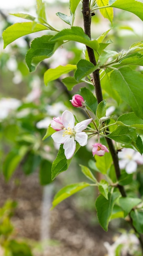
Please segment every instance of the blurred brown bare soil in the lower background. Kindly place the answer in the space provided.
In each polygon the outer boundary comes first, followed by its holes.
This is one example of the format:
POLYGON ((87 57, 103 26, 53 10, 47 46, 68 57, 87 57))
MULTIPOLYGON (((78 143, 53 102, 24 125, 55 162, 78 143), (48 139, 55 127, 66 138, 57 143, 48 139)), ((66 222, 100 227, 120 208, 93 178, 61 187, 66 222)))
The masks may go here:
MULTIPOLYGON (((6 184, 1 175, 0 206, 8 198, 17 200, 12 218, 18 237, 40 241, 41 203, 43 188, 38 175, 16 174, 20 185, 15 189, 14 179, 6 184)), ((71 200, 71 199, 70 199, 71 200)), ((91 225, 90 213, 76 211, 69 199, 50 211, 50 239, 56 241, 45 252, 34 250, 34 256, 105 256, 104 242, 112 241, 113 232, 106 233, 100 226, 91 225)))

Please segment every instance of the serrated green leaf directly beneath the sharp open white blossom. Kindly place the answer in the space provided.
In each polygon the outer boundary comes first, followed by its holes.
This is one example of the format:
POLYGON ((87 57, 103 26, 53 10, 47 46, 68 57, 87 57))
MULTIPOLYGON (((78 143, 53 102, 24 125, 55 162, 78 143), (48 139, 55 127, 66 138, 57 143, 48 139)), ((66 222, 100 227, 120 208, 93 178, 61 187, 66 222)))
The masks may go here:
MULTIPOLYGON (((74 155, 76 154, 76 152, 78 151, 78 149, 80 148, 80 145, 77 143, 76 144, 76 150, 74 155)), ((63 149, 63 145, 61 144, 60 149, 58 150, 58 155, 56 156, 56 159, 54 159, 53 163, 52 163, 52 180, 54 180, 54 178, 59 174, 62 173, 63 171, 66 171, 67 168, 69 167, 71 161, 72 161, 72 157, 71 159, 66 159, 65 154, 64 154, 64 149, 63 149)))

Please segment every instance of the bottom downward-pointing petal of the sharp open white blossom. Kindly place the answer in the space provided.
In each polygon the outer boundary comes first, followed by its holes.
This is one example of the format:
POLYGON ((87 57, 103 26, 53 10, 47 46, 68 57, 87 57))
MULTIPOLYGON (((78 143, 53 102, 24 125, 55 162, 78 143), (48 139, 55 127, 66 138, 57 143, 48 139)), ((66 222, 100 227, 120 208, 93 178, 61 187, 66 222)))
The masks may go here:
POLYGON ((67 159, 70 159, 73 157, 74 152, 76 150, 76 141, 74 140, 74 137, 72 138, 67 138, 64 145, 63 149, 65 149, 65 157, 67 159))

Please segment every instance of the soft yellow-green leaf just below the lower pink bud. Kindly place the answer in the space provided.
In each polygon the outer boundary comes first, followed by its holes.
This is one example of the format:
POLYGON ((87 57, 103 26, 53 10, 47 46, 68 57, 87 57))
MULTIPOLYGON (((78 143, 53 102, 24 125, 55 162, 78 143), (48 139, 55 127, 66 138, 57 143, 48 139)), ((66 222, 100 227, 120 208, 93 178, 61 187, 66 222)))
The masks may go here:
POLYGON ((102 157, 95 155, 95 160, 96 160, 96 167, 102 174, 107 173, 108 169, 111 167, 111 164, 113 162, 110 152, 105 153, 105 155, 102 157))

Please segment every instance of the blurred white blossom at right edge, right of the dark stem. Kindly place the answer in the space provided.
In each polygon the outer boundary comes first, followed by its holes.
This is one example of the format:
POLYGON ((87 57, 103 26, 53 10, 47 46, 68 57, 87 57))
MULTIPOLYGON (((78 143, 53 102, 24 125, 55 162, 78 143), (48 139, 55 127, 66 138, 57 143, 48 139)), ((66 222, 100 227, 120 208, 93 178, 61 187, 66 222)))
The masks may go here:
POLYGON ((118 152, 119 167, 125 169, 126 173, 134 173, 138 164, 143 164, 143 156, 132 148, 123 148, 118 152))

